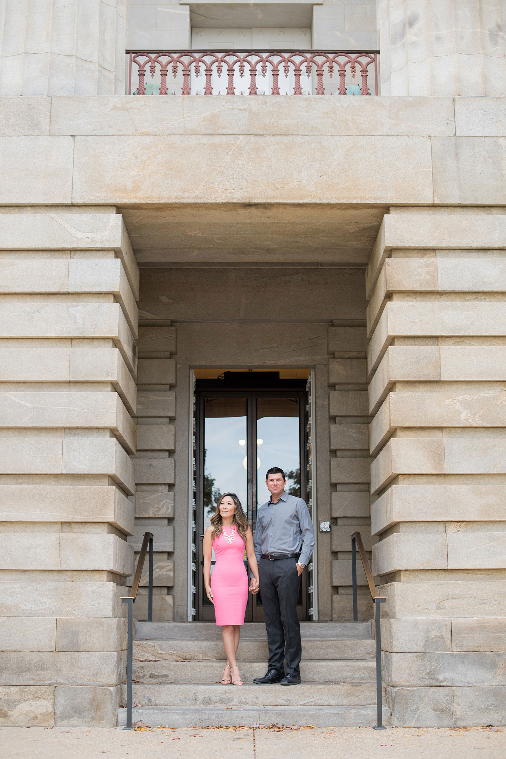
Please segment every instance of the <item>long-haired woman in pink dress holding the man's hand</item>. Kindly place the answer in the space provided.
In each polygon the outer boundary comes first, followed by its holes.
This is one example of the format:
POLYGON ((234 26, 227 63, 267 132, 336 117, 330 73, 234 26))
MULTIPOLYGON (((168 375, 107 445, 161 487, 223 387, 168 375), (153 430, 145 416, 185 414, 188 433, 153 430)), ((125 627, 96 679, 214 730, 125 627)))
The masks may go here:
POLYGON ((251 572, 255 575, 251 579, 251 593, 258 593, 259 580, 257 559, 253 550, 253 535, 236 493, 224 493, 220 497, 216 511, 211 517, 211 527, 205 531, 203 547, 205 592, 214 604, 216 624, 223 625, 226 666, 221 684, 242 685, 239 667, 236 664, 236 653, 248 603, 248 572, 244 565, 245 549, 251 572), (213 549, 216 563, 210 582, 213 549))

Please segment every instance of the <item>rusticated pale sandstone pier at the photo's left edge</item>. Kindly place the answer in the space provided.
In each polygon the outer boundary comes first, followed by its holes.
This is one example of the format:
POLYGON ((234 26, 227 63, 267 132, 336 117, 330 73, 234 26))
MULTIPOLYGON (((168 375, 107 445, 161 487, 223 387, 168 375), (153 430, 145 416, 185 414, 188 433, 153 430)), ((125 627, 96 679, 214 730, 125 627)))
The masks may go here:
POLYGON ((139 269, 102 211, 0 215, 3 725, 116 724, 139 269))

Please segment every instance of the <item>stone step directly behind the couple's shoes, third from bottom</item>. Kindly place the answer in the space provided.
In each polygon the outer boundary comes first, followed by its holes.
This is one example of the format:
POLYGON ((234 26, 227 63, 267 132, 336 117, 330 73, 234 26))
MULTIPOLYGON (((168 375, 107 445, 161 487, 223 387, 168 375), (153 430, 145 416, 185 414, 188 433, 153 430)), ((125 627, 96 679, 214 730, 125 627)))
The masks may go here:
MULTIPOLYGON (((219 683, 223 677, 222 662, 210 661, 148 661, 133 663, 133 679, 148 682, 219 683)), ((244 682, 263 677, 267 662, 241 661, 239 670, 244 682)), ((320 683, 373 682, 376 679, 376 660, 313 660, 301 661, 303 681, 320 683)), ((258 686, 255 686, 258 687, 258 686)), ((268 686, 270 687, 270 686, 268 686)), ((283 688, 285 690, 286 688, 283 688)))

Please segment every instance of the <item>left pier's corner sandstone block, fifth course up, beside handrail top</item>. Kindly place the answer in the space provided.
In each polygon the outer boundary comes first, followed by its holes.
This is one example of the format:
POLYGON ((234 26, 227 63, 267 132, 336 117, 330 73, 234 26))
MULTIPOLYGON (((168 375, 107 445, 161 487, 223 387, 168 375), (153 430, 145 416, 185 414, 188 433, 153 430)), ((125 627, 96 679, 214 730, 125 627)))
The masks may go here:
POLYGON ((117 575, 133 573, 133 550, 117 535, 60 536, 60 569, 102 569, 117 575))

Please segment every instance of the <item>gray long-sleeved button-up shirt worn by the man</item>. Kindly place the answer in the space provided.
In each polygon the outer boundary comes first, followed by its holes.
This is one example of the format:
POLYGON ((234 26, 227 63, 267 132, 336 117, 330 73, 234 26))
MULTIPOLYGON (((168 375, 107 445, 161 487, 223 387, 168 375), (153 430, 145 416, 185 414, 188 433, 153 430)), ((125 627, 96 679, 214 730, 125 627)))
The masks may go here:
POLYGON ((298 560, 307 564, 314 549, 314 531, 305 501, 283 493, 276 503, 271 499, 264 503, 257 512, 253 545, 257 561, 262 553, 300 551, 298 560))

